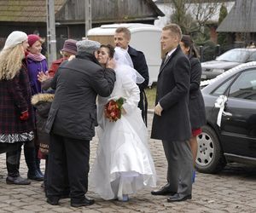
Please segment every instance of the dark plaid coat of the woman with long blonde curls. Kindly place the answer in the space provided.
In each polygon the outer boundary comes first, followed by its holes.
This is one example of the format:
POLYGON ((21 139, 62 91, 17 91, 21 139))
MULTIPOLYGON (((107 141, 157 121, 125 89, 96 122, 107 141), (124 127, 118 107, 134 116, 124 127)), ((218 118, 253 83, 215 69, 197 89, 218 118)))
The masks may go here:
POLYGON ((24 60, 15 78, 0 80, 0 134, 23 133, 35 129, 31 96, 24 60), (20 114, 26 110, 29 118, 21 121, 20 114))

